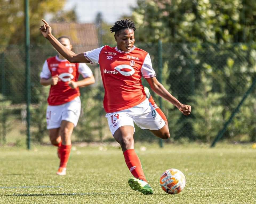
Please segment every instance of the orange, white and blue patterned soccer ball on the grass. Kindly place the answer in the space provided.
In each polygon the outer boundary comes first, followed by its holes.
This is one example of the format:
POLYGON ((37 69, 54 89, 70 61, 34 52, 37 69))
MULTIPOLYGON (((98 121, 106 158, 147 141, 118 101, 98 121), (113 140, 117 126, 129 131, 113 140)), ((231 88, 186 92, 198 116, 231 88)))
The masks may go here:
POLYGON ((181 192, 186 185, 184 174, 178 169, 167 169, 160 178, 160 186, 169 194, 181 192))

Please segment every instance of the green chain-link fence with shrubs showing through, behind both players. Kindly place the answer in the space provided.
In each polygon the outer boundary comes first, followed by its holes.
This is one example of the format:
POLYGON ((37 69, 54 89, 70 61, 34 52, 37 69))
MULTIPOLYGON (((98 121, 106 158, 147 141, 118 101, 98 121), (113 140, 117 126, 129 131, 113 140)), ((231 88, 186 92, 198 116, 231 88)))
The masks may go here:
MULTIPOLYGON (((81 46, 81 45, 79 45, 81 46)), ((235 110, 256 77, 256 44, 136 44, 151 56, 153 67, 162 75, 162 84, 181 103, 192 106, 189 117, 163 100, 162 110, 169 121, 171 138, 186 142, 212 141, 235 110), (161 58, 162 56, 162 58, 161 58), (163 65, 159 71, 159 65, 163 65)), ((76 48, 77 46, 74 45, 76 48)), ((92 46, 92 48, 95 46, 92 46)), ((31 46, 31 137, 43 142, 47 135, 45 112, 49 87, 39 83, 51 47, 31 46)), ((26 134, 26 90, 24 48, 9 46, 1 53, 1 142, 26 134)), ((74 130, 78 141, 113 141, 103 109, 104 89, 98 65, 89 65, 96 83, 81 88, 82 114, 74 130)), ((148 86, 146 80, 143 85, 148 86)), ((154 100, 159 96, 152 91, 154 100)), ((256 139, 255 90, 249 94, 228 126, 224 138, 230 141, 256 139)), ((136 140, 157 141, 147 130, 136 128, 136 140)))

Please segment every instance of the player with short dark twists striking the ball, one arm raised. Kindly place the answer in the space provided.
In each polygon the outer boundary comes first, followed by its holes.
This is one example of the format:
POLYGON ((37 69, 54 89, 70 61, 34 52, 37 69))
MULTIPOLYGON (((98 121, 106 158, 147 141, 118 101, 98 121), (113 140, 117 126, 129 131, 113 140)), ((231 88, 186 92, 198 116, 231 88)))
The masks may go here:
POLYGON ((189 105, 180 103, 155 77, 149 53, 134 45, 135 25, 130 20, 119 20, 111 27, 114 32, 116 47, 108 45, 91 51, 75 54, 63 46, 51 33, 50 25, 43 20, 40 27, 42 35, 70 62, 99 63, 105 88, 103 106, 109 128, 115 140, 120 144, 125 162, 135 178, 128 183, 133 190, 143 194, 153 194, 141 167, 141 162, 134 150, 134 122, 141 129, 149 129, 162 139, 170 137, 168 126, 155 111, 146 97, 141 77, 145 78, 150 88, 159 96, 175 105, 188 116, 189 105))

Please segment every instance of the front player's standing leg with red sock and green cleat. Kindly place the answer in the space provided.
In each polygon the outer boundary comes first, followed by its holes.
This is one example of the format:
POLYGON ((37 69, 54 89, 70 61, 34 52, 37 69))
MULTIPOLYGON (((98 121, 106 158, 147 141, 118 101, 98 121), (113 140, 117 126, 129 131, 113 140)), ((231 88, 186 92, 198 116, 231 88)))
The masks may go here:
POLYGON ((143 194, 153 194, 153 189, 147 183, 141 162, 134 150, 133 126, 121 126, 114 133, 115 140, 120 144, 125 163, 135 178, 130 178, 128 184, 131 189, 143 194))

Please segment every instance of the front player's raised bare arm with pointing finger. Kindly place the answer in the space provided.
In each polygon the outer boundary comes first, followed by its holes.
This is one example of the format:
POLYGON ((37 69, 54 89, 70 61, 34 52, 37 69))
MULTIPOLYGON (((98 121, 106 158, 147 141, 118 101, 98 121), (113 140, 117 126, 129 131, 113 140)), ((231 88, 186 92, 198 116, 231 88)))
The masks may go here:
POLYGON ((42 35, 50 41, 50 43, 54 46, 54 48, 63 56, 65 57, 69 62, 71 63, 90 63, 89 60, 87 60, 83 53, 75 54, 73 51, 65 48, 51 33, 51 27, 50 25, 45 21, 43 21, 43 25, 39 28, 42 35))

